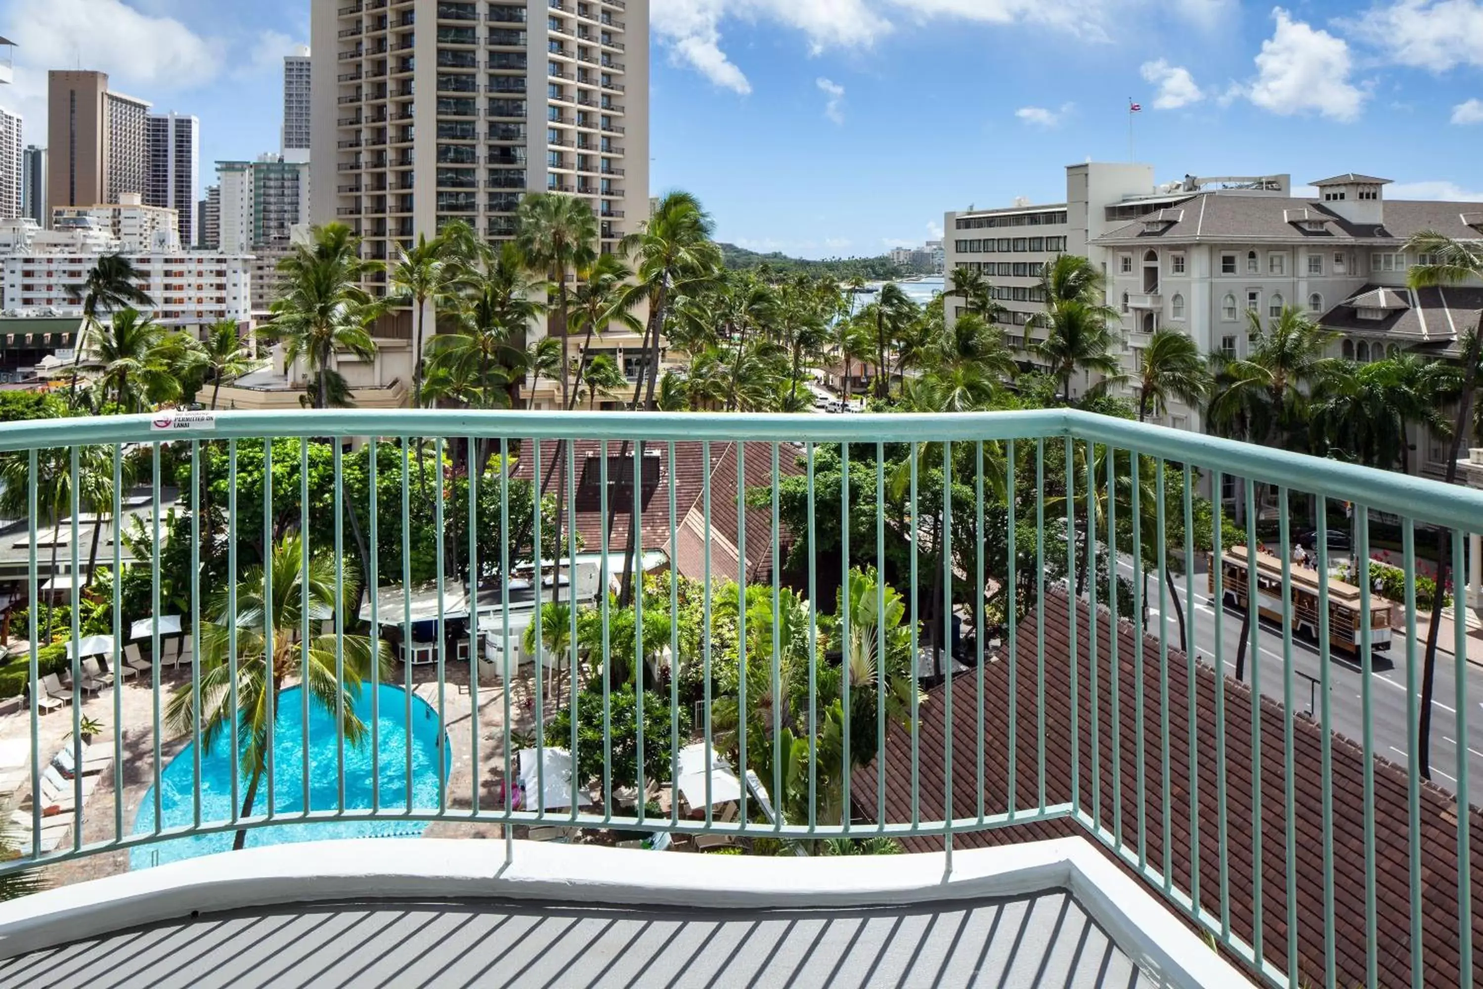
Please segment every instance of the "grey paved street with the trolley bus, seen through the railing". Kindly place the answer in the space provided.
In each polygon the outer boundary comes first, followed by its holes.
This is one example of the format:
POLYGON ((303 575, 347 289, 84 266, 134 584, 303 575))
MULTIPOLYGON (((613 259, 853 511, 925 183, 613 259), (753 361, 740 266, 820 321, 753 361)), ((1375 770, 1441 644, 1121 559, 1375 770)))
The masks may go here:
MULTIPOLYGON (((1121 565, 1126 577, 1132 577, 1127 562, 1121 565)), ((1191 635, 1192 648, 1207 661, 1216 658, 1215 636, 1215 606, 1204 589, 1206 577, 1195 577, 1195 623, 1191 635)), ((1176 581, 1183 608, 1183 580, 1176 581)), ((1158 614, 1158 583, 1155 577, 1148 578, 1149 602, 1149 632, 1155 636, 1160 632, 1158 614)), ((1167 587, 1166 587, 1167 593, 1167 587)), ((1237 608, 1225 608, 1221 620, 1221 639, 1223 649, 1221 660, 1226 673, 1235 675, 1237 644, 1241 635, 1243 614, 1237 608)), ((1173 602, 1167 615, 1169 638, 1179 641, 1179 626, 1173 614, 1173 602)), ((1421 660, 1425 652, 1427 617, 1418 617, 1416 623, 1416 704, 1421 704, 1421 660)), ((1458 744, 1456 744, 1456 700, 1455 663, 1450 649, 1437 648, 1437 684, 1433 695, 1431 721, 1431 777, 1441 787, 1453 789, 1458 774, 1458 744)), ((1259 676, 1262 694, 1274 700, 1283 700, 1283 633, 1274 623, 1262 621, 1261 630, 1255 635, 1256 657, 1259 661, 1259 676)), ((1397 632, 1388 651, 1375 652, 1375 670, 1370 675, 1370 731, 1375 755, 1385 756, 1393 762, 1406 765, 1410 758, 1407 743, 1407 710, 1406 710, 1406 635, 1397 632)), ((1308 710, 1309 698, 1314 715, 1318 715, 1321 698, 1318 687, 1304 679, 1304 675, 1318 678, 1320 660, 1317 644, 1293 639, 1293 707, 1299 712, 1308 710)), ((1252 669, 1247 663, 1246 679, 1250 681, 1252 669)), ((1464 687, 1468 698, 1468 789, 1470 798, 1476 799, 1483 793, 1483 670, 1473 664, 1465 664, 1464 687)), ((1364 737, 1363 718, 1363 673, 1358 663, 1345 654, 1330 652, 1329 664, 1329 719, 1330 727, 1355 741, 1364 737)))

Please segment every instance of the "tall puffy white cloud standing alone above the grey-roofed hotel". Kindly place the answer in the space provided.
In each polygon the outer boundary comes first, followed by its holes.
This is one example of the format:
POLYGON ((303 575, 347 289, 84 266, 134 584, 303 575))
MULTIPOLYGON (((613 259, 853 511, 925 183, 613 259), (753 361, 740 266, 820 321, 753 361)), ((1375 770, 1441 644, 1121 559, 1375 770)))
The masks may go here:
POLYGON ((1327 31, 1293 21, 1281 7, 1272 7, 1272 19, 1277 28, 1256 55, 1256 80, 1247 98, 1281 116, 1318 113, 1355 120, 1369 93, 1350 82, 1350 46, 1327 31))

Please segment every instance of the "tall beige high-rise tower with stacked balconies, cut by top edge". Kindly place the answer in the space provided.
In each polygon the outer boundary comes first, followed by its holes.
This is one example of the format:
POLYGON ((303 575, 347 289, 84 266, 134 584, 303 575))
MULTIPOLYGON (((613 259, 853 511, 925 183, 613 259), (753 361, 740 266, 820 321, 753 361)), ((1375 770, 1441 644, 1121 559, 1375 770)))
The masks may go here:
POLYGON ((509 239, 550 190, 586 199, 615 249, 648 215, 648 0, 316 3, 313 221, 392 261, 451 219, 509 239))

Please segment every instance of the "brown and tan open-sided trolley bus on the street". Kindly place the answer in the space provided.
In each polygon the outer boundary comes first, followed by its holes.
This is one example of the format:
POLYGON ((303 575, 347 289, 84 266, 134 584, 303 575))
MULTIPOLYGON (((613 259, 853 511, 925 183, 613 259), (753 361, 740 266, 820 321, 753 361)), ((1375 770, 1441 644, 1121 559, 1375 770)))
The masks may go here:
MULTIPOLYGON (((1244 546, 1231 547, 1221 558, 1225 603, 1246 609, 1247 558, 1244 546)), ((1318 571, 1293 563, 1292 615, 1293 632, 1318 638, 1318 571)), ((1215 568, 1207 583, 1215 593, 1215 568)), ((1329 578, 1329 645, 1354 655, 1360 654, 1360 589, 1329 578)), ((1283 623, 1283 562, 1268 553, 1256 555, 1256 608, 1268 620, 1283 623)), ((1370 595, 1370 646, 1388 649, 1391 642, 1391 605, 1370 595)))

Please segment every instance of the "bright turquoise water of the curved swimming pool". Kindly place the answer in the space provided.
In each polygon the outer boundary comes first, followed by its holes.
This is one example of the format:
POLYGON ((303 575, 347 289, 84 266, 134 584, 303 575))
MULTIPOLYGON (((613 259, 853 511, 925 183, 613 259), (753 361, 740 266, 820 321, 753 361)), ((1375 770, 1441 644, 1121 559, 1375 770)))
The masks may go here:
MULTIPOLYGON (((369 810, 372 793, 380 787, 381 807, 406 807, 406 692, 399 687, 378 688, 378 747, 380 780, 371 771, 371 687, 356 697, 356 715, 366 725, 365 738, 357 746, 346 746, 346 808, 369 810)), ((448 780, 452 753, 437 721, 437 712, 421 697, 412 697, 412 807, 437 810, 437 796, 448 780)), ((338 744, 334 712, 310 700, 308 709, 308 805, 316 811, 332 811, 340 805, 337 786, 338 744)), ((300 688, 279 694, 273 728, 273 801, 279 814, 304 810, 304 700, 300 688)), ((200 818, 203 823, 231 820, 231 750, 222 737, 200 759, 200 818)), ((185 746, 160 774, 160 807, 165 827, 194 823, 194 755, 185 746)), ((239 787, 246 796, 246 780, 239 787)), ((237 808, 240 811, 240 807, 237 808)), ((267 810, 267 778, 258 784, 254 814, 267 810)), ((248 830, 248 845, 274 845, 326 838, 412 838, 421 835, 426 821, 316 821, 311 824, 276 824, 248 830)), ((133 833, 154 830, 154 787, 139 802, 133 833)), ((175 838, 129 851, 131 869, 147 869, 179 859, 209 856, 231 848, 236 832, 175 838)))

